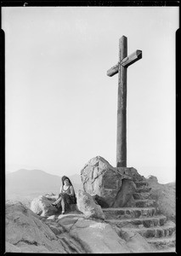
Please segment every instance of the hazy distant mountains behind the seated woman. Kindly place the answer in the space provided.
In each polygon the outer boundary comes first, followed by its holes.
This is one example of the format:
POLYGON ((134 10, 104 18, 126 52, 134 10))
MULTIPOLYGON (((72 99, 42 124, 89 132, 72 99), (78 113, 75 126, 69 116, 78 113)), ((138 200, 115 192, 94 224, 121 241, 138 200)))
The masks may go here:
MULTIPOLYGON (((81 177, 78 174, 70 176, 75 190, 81 188, 81 177)), ((43 195, 44 193, 59 193, 61 177, 41 170, 20 169, 6 175, 6 195, 43 195)))

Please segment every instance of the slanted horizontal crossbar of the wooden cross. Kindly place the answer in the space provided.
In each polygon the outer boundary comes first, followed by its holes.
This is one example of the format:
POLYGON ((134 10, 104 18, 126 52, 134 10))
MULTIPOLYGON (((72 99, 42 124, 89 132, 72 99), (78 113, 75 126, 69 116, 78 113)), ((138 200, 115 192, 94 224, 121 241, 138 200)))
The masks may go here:
MULTIPOLYGON (((120 64, 123 67, 129 67, 130 65, 132 65, 134 62, 139 61, 142 58, 142 51, 140 49, 137 49, 136 51, 133 52, 133 54, 128 55, 126 58, 124 58, 120 64)), ((116 73, 118 73, 119 70, 119 62, 111 67, 108 71, 107 71, 107 75, 109 77, 114 76, 116 73)))

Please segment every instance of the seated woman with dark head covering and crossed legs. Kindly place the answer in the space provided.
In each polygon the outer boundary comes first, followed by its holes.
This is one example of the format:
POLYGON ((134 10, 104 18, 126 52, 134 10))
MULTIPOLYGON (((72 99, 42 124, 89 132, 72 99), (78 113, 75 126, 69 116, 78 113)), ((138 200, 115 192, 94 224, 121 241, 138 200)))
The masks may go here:
POLYGON ((69 177, 62 177, 62 185, 59 189, 59 198, 52 205, 56 208, 61 206, 62 214, 71 204, 76 204, 76 195, 69 177))

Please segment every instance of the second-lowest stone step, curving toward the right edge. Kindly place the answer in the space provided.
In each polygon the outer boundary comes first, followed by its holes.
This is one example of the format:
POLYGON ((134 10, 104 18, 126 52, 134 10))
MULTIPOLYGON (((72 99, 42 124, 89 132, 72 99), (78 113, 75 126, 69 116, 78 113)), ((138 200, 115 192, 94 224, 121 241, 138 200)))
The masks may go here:
POLYGON ((166 224, 162 226, 156 226, 156 227, 150 227, 150 228, 122 228, 123 231, 132 230, 134 232, 138 232, 141 236, 144 236, 146 238, 150 237, 167 237, 172 236, 173 232, 175 231, 175 224, 172 221, 167 221, 166 224))

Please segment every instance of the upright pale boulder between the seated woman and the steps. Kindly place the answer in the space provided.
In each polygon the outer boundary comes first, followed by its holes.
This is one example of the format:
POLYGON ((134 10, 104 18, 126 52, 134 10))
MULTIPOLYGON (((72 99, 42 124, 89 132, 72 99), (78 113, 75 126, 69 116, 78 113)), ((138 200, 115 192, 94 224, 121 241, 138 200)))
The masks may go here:
POLYGON ((93 201, 91 195, 79 189, 76 193, 76 204, 78 210, 82 212, 87 218, 101 218, 105 219, 105 214, 102 208, 93 201))

